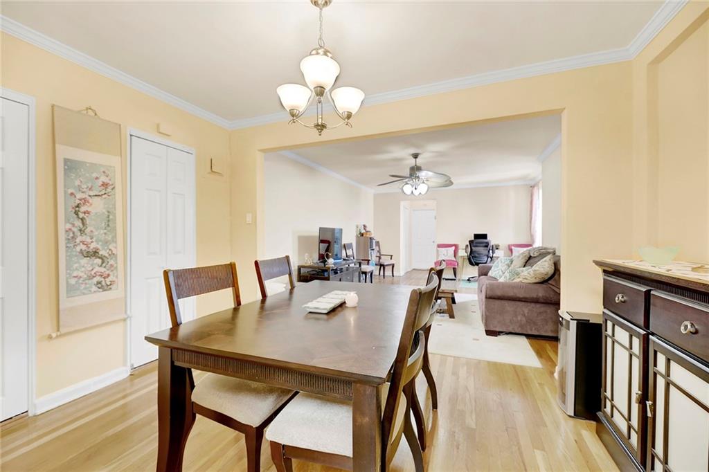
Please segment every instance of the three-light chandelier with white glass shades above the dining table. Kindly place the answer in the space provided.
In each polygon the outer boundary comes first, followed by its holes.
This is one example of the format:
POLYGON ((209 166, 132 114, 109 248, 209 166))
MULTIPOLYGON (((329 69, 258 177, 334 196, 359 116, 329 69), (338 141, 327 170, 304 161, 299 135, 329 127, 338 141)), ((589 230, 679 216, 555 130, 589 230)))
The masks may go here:
POLYGON ((300 123, 307 128, 318 131, 322 135, 326 129, 337 128, 346 125, 352 128, 350 119, 357 113, 362 105, 364 92, 356 87, 338 87, 330 91, 337 75, 340 74, 340 64, 333 59, 333 53, 325 47, 323 40, 323 9, 330 5, 333 0, 311 0, 311 4, 320 11, 320 34, 318 35, 318 47, 311 50, 310 54, 301 60, 301 72, 306 79, 308 86, 301 84, 283 84, 276 89, 281 99, 281 105, 286 108, 291 116, 289 123, 300 123), (340 118, 340 123, 330 126, 323 121, 323 97, 327 95, 330 103, 335 108, 335 113, 340 118), (315 101, 317 118, 312 125, 303 123, 301 116, 308 109, 308 106, 315 101))

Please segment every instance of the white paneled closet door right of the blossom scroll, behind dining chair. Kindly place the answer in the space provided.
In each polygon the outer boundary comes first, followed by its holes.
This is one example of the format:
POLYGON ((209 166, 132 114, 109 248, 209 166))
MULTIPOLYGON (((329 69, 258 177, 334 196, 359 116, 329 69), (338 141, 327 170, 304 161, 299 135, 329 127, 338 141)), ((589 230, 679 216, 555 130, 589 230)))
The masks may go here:
MULTIPOLYGON (((145 335, 170 326, 162 271, 196 259, 194 154, 130 137, 130 364, 157 359, 145 335)), ((194 300, 180 303, 183 321, 194 300)))

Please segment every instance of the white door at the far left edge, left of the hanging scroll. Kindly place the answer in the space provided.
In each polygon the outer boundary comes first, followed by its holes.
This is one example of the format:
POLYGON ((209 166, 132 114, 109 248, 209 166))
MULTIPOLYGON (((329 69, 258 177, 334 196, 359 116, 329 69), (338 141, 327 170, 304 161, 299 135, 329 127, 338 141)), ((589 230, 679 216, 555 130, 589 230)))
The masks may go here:
POLYGON ((27 411, 30 110, 0 107, 0 420, 27 411))

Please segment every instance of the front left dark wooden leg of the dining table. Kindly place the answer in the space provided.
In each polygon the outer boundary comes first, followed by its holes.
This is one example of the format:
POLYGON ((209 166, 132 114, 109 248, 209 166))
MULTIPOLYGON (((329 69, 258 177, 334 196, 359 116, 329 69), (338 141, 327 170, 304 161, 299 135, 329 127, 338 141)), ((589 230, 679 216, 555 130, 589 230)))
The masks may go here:
POLYGON ((157 360, 157 471, 182 471, 182 455, 194 425, 189 370, 172 362, 168 347, 157 360))

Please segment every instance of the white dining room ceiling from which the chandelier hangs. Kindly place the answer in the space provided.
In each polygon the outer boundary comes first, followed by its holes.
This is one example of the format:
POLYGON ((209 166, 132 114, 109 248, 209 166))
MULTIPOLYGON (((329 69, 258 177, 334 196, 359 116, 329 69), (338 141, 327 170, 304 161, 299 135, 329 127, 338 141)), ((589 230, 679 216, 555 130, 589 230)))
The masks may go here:
MULTIPOLYGON (((625 48, 661 6, 335 0, 325 43, 337 84, 372 96, 625 48)), ((318 32, 307 0, 3 1, 2 14, 230 121, 281 110, 275 89, 303 82, 298 63, 318 32)))

